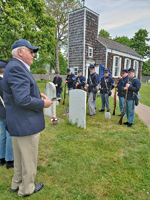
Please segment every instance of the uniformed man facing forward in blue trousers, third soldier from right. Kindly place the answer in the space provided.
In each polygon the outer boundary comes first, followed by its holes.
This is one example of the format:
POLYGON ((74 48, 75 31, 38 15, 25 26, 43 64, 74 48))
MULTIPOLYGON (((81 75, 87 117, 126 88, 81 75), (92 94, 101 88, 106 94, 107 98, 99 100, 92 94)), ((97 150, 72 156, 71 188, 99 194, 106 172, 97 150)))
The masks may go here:
POLYGON ((109 107, 109 96, 111 96, 111 90, 114 88, 114 81, 111 76, 109 76, 109 69, 104 69, 104 77, 100 80, 100 94, 101 94, 101 101, 102 101, 102 108, 99 112, 105 111, 105 104, 107 107, 107 112, 110 111, 109 107))

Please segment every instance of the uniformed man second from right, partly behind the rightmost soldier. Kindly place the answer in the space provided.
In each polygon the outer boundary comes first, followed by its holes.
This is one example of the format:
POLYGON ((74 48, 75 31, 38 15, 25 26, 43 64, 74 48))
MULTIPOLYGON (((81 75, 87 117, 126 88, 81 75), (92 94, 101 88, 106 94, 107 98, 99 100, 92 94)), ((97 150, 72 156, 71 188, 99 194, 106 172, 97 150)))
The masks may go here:
POLYGON ((124 99, 125 99, 125 90, 124 87, 126 86, 128 82, 128 70, 123 69, 121 72, 121 78, 119 82, 115 85, 115 87, 118 88, 118 96, 119 96, 119 108, 120 108, 120 114, 118 116, 122 115, 123 107, 124 107, 124 99))

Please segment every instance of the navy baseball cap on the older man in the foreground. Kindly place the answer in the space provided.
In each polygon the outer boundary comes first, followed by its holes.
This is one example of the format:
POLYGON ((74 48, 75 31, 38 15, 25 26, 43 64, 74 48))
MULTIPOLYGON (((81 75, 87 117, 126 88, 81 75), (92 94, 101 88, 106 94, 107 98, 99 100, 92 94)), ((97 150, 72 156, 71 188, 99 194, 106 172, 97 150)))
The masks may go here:
POLYGON ((30 44, 30 42, 28 40, 25 39, 20 39, 14 42, 14 44, 12 45, 12 49, 15 49, 17 47, 28 47, 29 49, 33 49, 33 52, 36 53, 38 51, 38 47, 34 47, 30 44))

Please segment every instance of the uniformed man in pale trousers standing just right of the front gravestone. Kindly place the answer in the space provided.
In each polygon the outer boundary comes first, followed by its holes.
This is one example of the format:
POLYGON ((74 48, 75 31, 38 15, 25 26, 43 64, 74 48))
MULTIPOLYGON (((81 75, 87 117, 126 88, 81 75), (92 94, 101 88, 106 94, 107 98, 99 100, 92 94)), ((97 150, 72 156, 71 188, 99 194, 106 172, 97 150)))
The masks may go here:
POLYGON ((98 85, 98 76, 95 72, 95 66, 90 65, 90 75, 87 80, 87 84, 85 86, 85 89, 88 90, 88 105, 89 105, 89 117, 96 115, 95 112, 95 99, 96 99, 96 93, 97 93, 97 85, 98 85))

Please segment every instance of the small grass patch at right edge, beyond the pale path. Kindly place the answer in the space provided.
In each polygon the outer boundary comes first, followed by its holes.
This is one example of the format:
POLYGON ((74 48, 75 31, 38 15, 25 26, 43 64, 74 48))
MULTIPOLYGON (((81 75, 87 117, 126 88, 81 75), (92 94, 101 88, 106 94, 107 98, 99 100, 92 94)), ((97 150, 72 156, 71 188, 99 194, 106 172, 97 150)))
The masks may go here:
POLYGON ((142 82, 139 93, 141 95, 140 103, 150 106, 150 84, 142 82))

